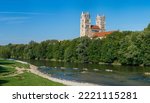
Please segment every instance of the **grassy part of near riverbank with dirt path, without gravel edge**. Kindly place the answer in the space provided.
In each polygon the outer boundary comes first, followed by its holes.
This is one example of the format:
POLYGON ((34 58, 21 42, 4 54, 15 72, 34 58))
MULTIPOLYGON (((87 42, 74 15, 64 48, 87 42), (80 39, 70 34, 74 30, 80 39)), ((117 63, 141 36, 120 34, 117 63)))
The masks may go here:
POLYGON ((0 59, 0 86, 62 86, 28 71, 29 64, 0 59), (16 69, 18 68, 18 69, 16 69))

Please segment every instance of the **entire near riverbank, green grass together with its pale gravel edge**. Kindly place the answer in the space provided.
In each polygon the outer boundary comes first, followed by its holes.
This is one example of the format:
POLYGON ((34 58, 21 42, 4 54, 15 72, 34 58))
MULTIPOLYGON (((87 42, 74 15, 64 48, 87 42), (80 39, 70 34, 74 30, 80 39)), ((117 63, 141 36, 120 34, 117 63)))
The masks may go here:
POLYGON ((9 71, 0 72, 0 85, 4 86, 96 86, 92 83, 80 83, 53 78, 38 70, 38 67, 28 62, 20 60, 1 60, 0 70, 9 71), (1 83, 5 81, 5 83, 1 83))

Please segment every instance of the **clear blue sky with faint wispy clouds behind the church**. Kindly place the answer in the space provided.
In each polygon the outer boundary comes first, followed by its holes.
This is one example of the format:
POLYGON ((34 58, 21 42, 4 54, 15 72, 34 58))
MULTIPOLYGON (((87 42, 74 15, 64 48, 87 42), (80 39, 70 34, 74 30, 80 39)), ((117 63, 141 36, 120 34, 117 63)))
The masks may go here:
POLYGON ((82 11, 92 24, 105 15, 108 31, 140 31, 150 23, 150 0, 0 0, 0 45, 77 38, 82 11))

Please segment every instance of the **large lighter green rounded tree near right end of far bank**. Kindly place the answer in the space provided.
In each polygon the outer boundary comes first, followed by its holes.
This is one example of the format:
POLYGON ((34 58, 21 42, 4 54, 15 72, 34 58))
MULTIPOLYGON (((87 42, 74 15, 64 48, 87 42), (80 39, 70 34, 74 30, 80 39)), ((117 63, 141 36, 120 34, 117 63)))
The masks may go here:
POLYGON ((120 63, 127 65, 142 64, 140 44, 137 43, 137 36, 140 34, 140 32, 133 32, 120 42, 120 50, 118 52, 120 63))

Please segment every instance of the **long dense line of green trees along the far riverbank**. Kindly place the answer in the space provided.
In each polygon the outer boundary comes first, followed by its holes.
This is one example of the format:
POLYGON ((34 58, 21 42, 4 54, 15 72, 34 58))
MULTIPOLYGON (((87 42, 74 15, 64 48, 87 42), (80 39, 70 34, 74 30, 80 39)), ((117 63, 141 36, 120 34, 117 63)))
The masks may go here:
POLYGON ((78 63, 150 65, 150 25, 143 31, 116 31, 106 38, 35 41, 0 46, 1 58, 78 63))

